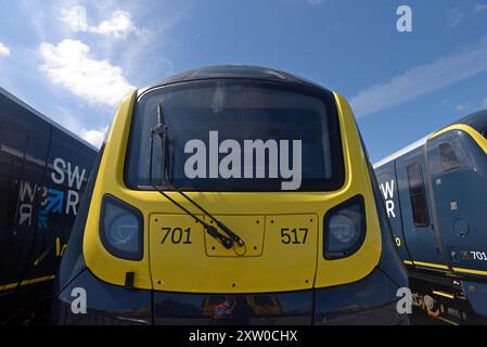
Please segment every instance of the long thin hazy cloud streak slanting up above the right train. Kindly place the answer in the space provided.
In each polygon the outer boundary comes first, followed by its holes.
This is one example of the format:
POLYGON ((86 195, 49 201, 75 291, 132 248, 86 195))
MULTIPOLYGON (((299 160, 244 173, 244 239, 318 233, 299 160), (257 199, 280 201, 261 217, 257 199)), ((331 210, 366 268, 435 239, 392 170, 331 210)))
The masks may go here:
POLYGON ((434 92, 487 70, 487 40, 475 49, 409 68, 389 81, 370 86, 351 98, 358 117, 434 92))

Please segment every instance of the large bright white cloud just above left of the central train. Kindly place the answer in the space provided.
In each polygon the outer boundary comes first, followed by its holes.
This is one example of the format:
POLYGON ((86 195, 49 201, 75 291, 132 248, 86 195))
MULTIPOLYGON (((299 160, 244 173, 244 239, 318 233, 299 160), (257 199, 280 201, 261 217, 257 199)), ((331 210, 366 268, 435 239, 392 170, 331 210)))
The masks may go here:
POLYGON ((108 60, 90 56, 90 47, 77 40, 57 44, 42 42, 39 47, 43 64, 40 69, 54 83, 91 102, 116 106, 134 87, 119 66, 108 60))

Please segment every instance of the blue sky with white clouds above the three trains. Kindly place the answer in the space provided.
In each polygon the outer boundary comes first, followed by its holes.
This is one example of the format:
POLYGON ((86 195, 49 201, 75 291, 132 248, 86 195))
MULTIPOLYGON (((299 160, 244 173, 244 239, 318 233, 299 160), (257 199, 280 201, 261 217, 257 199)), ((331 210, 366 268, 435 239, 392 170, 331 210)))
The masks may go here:
POLYGON ((339 92, 376 162, 487 108, 487 0, 0 0, 0 87, 97 146, 131 89, 213 64, 339 92))

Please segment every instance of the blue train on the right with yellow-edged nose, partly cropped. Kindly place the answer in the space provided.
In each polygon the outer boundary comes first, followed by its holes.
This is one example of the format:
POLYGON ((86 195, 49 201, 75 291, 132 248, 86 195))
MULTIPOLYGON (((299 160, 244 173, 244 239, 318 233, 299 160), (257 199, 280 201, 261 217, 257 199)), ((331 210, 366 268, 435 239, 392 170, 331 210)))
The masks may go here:
POLYGON ((415 310, 487 322, 487 110, 374 165, 415 310))

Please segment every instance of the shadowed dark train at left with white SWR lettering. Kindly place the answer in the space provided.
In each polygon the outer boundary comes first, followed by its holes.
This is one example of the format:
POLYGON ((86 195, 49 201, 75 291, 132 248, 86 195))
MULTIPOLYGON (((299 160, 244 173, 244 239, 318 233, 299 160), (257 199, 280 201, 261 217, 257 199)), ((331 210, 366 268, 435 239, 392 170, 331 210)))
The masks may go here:
POLYGON ((50 310, 97 153, 0 88, 0 324, 24 323, 50 310))

